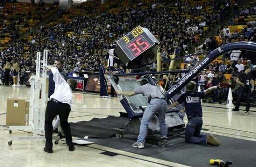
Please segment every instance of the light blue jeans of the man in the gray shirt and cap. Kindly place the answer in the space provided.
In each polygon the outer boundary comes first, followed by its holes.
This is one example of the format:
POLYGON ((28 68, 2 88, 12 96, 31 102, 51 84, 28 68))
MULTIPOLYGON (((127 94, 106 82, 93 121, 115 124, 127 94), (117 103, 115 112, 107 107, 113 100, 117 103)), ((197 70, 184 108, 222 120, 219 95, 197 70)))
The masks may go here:
POLYGON ((148 124, 155 115, 159 115, 160 133, 163 137, 167 136, 167 125, 165 123, 165 114, 167 110, 167 101, 163 99, 152 99, 148 104, 143 117, 141 119, 140 134, 138 136, 138 142, 145 142, 148 133, 148 124))

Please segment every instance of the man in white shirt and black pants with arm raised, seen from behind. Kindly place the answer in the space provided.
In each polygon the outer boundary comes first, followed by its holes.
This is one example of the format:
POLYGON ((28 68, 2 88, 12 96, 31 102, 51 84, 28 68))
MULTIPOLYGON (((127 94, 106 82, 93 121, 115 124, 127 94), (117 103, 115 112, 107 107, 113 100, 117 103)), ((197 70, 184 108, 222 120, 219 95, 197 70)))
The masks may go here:
POLYGON ((76 80, 65 80, 58 68, 51 67, 53 73, 53 80, 55 82, 54 94, 50 96, 50 101, 47 104, 45 113, 45 147, 44 151, 47 153, 53 153, 53 120, 56 115, 60 116, 61 127, 64 131, 68 150, 74 151, 74 144, 70 132, 69 123, 67 122, 68 115, 71 111, 72 103, 72 90, 76 88, 76 80))

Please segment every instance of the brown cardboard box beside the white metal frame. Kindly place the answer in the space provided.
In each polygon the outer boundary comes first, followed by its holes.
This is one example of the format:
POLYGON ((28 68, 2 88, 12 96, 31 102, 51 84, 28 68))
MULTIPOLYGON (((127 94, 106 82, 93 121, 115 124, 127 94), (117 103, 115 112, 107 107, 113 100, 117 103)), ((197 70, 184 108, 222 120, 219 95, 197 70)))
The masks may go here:
POLYGON ((7 99, 6 125, 28 125, 29 100, 7 99))

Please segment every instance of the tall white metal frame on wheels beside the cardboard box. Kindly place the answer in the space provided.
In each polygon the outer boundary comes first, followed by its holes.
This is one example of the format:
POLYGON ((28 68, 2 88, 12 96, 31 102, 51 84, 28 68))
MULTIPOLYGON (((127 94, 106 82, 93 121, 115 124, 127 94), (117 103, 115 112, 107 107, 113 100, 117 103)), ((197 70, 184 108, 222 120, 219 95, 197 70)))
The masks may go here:
MULTIPOLYGON (((29 79, 30 82, 30 103, 29 103, 29 121, 27 126, 10 126, 9 131, 12 130, 31 130, 32 136, 11 136, 9 145, 13 140, 45 140, 44 137, 44 122, 45 122, 45 110, 48 100, 47 96, 47 58, 48 50, 44 50, 43 60, 41 61, 41 53, 36 54, 36 73, 29 79), (40 75, 40 70, 42 74, 40 75), (41 99, 40 99, 41 91, 41 99)), ((58 140, 59 137, 53 137, 54 140, 58 140)))

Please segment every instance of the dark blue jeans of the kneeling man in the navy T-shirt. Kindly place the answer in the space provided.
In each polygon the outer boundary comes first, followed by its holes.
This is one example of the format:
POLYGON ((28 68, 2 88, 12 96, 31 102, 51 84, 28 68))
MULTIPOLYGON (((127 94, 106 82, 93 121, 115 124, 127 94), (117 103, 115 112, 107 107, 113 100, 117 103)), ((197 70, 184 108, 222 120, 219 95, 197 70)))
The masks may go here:
POLYGON ((200 135, 202 129, 202 117, 191 118, 186 126, 185 140, 189 143, 207 145, 206 135, 200 135))

